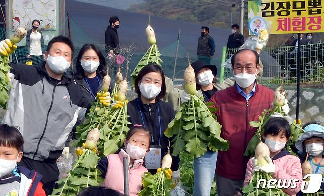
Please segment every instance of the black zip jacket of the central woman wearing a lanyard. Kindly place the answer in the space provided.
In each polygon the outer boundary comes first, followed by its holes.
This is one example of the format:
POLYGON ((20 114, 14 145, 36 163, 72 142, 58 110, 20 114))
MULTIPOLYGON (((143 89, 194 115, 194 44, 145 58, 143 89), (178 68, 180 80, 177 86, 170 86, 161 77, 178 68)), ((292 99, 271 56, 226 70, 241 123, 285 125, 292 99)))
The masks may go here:
MULTIPOLYGON (((172 138, 167 138, 164 135, 164 132, 167 129, 167 125, 171 122, 171 120, 173 120, 175 116, 175 112, 173 110, 172 104, 158 99, 156 99, 156 102, 153 104, 143 104, 141 99, 138 97, 137 99, 134 99, 128 103, 127 114, 130 116, 129 121, 132 123, 132 125, 141 124, 144 126, 145 124, 145 128, 147 128, 150 131, 151 136, 153 136, 151 145, 159 145, 160 133, 159 133, 158 106, 160 112, 159 117, 161 120, 160 145, 161 145, 161 160, 162 160, 163 156, 167 153, 167 146, 169 145, 169 140, 172 141, 172 138), (139 108, 142 111, 144 123, 139 108)), ((176 171, 178 170, 178 168, 179 168, 179 158, 172 157, 171 170, 176 171)))

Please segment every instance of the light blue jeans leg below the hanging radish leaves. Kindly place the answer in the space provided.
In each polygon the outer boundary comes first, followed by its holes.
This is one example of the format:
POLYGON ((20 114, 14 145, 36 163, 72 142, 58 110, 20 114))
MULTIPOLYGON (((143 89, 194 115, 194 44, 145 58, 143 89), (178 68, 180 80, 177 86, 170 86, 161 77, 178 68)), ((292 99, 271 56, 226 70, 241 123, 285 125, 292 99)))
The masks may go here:
POLYGON ((194 158, 194 196, 209 196, 216 169, 217 152, 194 158))

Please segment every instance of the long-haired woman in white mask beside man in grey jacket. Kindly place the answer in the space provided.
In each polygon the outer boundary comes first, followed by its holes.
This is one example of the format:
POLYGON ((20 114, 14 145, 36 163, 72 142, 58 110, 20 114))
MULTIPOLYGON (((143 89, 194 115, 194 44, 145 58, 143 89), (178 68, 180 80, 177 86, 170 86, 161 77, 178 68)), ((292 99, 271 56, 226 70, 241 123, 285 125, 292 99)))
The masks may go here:
POLYGON ((76 70, 73 73, 74 81, 80 84, 83 94, 89 102, 96 99, 101 90, 101 81, 106 74, 104 70, 106 60, 99 48, 94 44, 82 46, 76 59, 76 70))

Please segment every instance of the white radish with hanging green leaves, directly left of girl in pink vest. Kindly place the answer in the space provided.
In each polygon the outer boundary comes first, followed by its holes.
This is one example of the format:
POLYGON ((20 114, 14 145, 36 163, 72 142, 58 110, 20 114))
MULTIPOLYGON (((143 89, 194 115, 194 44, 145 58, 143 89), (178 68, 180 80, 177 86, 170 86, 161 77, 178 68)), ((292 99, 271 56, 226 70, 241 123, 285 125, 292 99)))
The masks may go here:
POLYGON ((83 147, 76 148, 78 161, 69 172, 68 177, 57 181, 59 188, 54 189, 52 196, 75 196, 89 186, 99 186, 103 179, 97 169, 100 157, 97 156, 96 145, 100 132, 97 128, 92 129, 83 147))

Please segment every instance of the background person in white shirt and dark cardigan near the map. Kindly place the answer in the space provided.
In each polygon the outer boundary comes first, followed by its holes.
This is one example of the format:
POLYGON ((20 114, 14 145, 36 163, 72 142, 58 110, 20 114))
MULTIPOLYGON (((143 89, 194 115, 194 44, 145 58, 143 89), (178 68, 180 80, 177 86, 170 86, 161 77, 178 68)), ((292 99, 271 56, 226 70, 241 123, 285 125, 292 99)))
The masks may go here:
POLYGON ((27 58, 28 61, 32 61, 32 65, 38 65, 44 60, 44 38, 42 33, 38 30, 39 25, 39 20, 33 20, 32 29, 29 30, 26 35, 27 58))

